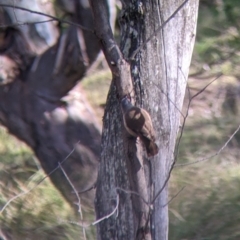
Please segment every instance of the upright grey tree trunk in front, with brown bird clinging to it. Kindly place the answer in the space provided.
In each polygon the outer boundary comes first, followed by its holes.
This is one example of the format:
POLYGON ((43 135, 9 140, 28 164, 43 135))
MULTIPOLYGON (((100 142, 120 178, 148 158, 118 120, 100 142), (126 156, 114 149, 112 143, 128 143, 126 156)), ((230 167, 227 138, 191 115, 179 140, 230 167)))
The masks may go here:
POLYGON ((119 50, 106 20, 106 3, 91 1, 96 32, 113 73, 95 203, 98 239, 166 240, 167 181, 195 40, 198 0, 184 4, 162 29, 182 1, 122 3, 119 50), (152 159, 141 141, 129 139, 123 127, 119 99, 126 94, 152 117, 159 146, 152 159))

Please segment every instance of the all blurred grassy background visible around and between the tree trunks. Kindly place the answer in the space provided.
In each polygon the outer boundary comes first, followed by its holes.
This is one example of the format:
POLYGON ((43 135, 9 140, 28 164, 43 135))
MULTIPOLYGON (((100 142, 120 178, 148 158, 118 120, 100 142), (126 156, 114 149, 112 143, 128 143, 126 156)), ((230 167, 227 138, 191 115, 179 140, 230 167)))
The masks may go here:
MULTIPOLYGON (((191 102, 177 165, 214 155, 239 125, 239 13, 239 0, 200 1, 183 113, 192 95, 221 76, 191 102)), ((109 70, 100 67, 82 82, 99 121, 110 81, 109 70)), ((215 157, 174 168, 169 194, 170 240, 240 239, 239 145, 240 133, 237 133, 215 157)), ((0 160, 0 206, 44 177, 30 149, 3 128, 0 128, 0 160)), ((86 224, 94 221, 93 211, 86 207, 83 217, 86 224)), ((83 236, 76 224, 79 218, 46 179, 9 204, 0 215, 0 224, 16 240, 70 240, 83 236)), ((86 234, 87 239, 94 239, 94 229, 86 229, 86 234)))

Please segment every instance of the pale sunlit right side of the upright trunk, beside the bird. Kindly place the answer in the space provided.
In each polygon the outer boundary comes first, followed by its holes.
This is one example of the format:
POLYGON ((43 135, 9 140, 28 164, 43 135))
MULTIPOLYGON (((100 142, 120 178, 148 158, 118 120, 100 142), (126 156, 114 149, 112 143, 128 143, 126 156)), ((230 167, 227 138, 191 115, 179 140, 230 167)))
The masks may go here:
MULTIPOLYGON (((146 4, 145 36, 177 9, 182 1, 150 1, 146 4)), ((181 117, 181 109, 191 62, 197 24, 198 0, 189 1, 169 23, 146 45, 140 57, 143 95, 146 109, 152 113, 158 133, 159 156, 152 163, 151 199, 153 239, 168 239, 167 185, 157 197, 168 178, 174 161, 174 149, 181 117), (144 81, 148 79, 148 81, 144 81), (153 202, 154 200, 154 202, 153 202)))

